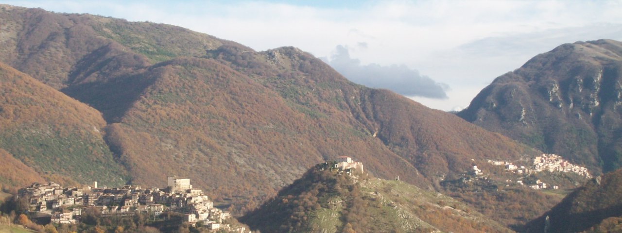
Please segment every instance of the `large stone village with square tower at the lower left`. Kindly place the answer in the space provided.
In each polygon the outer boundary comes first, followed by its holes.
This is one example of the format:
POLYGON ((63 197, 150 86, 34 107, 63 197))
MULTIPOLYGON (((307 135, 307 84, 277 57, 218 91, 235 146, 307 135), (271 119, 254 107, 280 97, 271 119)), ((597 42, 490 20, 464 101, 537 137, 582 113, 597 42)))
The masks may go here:
POLYGON ((136 212, 159 216, 164 211, 183 214, 183 221, 202 222, 211 230, 226 229, 248 232, 244 227, 232 229, 223 222, 231 217, 226 211, 213 207, 202 190, 192 188, 190 179, 169 176, 167 188, 146 188, 126 185, 122 188, 93 186, 65 188, 57 183, 33 183, 21 188, 17 196, 29 198, 30 210, 51 215, 52 223, 75 224, 85 208, 95 208, 103 216, 134 214, 136 212))

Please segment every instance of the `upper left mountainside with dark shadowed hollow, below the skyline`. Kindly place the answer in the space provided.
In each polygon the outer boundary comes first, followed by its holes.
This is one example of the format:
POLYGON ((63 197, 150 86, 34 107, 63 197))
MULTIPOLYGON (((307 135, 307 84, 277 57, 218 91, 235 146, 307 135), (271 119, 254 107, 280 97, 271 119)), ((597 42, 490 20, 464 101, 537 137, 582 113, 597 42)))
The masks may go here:
POLYGON ((0 5, 0 61, 118 122, 146 88, 146 66, 231 43, 181 27, 0 5), (125 88, 119 88, 124 86, 125 88))

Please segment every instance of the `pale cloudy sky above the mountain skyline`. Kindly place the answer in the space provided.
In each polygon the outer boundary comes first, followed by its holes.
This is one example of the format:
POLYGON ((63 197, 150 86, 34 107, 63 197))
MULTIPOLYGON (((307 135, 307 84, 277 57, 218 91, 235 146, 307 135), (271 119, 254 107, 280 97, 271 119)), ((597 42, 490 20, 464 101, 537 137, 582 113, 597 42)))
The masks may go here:
POLYGON ((3 1, 298 47, 349 80, 457 111, 563 43, 622 40, 622 1, 3 1))

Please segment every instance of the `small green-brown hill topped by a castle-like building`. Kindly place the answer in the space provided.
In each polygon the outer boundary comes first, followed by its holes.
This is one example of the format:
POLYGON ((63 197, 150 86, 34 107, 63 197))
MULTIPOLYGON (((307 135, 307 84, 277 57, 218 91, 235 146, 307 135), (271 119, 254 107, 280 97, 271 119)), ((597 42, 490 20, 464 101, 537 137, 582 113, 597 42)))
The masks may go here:
POLYGON ((443 194, 330 167, 311 168, 240 220, 261 232, 512 232, 443 194))

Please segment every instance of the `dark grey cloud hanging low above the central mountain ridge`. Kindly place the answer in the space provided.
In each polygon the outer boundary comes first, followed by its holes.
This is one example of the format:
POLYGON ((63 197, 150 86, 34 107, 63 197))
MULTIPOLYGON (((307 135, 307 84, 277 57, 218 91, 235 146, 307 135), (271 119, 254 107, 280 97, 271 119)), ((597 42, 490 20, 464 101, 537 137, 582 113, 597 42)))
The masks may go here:
POLYGON ((420 75, 419 71, 406 65, 361 65, 360 60, 350 58, 348 48, 343 45, 337 46, 330 61, 326 58, 323 60, 348 80, 361 85, 390 89, 405 96, 447 99, 445 91, 449 89, 448 85, 420 75))

